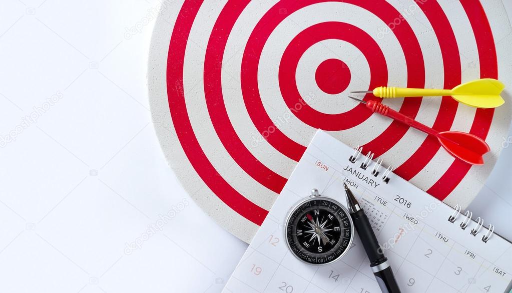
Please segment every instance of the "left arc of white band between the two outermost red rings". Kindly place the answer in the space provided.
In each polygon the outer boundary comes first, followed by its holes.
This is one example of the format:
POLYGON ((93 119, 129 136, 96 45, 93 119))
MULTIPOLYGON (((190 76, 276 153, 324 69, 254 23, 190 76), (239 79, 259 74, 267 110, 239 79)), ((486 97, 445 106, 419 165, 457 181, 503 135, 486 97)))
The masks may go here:
MULTIPOLYGON (((206 106, 203 82, 205 48, 215 24, 209 19, 209 15, 210 13, 219 14, 222 8, 223 6, 218 3, 205 2, 200 8, 188 38, 183 70, 183 80, 187 82, 184 82, 183 90, 186 95, 187 109, 194 109, 188 112, 188 116, 204 154, 218 170, 219 175, 245 198, 268 210, 277 195, 250 177, 230 156, 217 135, 206 106)), ((233 81, 228 84, 231 87, 236 85, 233 81)), ((229 104, 231 101, 229 92, 224 92, 223 95, 224 102, 229 104)), ((236 120, 231 121, 236 122, 236 120)))

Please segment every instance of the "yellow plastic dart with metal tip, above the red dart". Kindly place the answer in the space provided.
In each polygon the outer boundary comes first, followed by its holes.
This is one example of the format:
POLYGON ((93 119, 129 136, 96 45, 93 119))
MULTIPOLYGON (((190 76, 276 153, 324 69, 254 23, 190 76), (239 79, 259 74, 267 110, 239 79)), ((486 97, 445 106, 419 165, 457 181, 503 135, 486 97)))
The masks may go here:
POLYGON ((505 85, 492 78, 477 79, 462 83, 452 90, 436 89, 407 89, 395 87, 378 87, 373 91, 353 93, 373 93, 379 98, 422 97, 422 96, 452 96, 460 103, 476 108, 496 108, 505 101, 500 96, 505 85))

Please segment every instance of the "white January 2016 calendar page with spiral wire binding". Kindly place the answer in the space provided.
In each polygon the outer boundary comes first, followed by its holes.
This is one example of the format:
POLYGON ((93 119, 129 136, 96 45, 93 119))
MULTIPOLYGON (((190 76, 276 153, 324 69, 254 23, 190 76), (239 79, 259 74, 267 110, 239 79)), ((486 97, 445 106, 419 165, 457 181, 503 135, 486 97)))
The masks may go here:
POLYGON ((324 265, 298 260, 286 243, 291 208, 312 189, 345 204, 344 182, 364 208, 402 292, 505 291, 512 273, 510 242, 496 234, 484 242, 486 223, 472 235, 475 221, 467 219, 462 229, 463 213, 449 221, 452 207, 393 173, 383 181, 386 162, 374 176, 376 162, 362 169, 365 155, 351 162, 353 154, 327 133, 316 133, 224 293, 380 292, 357 233, 343 258, 324 265))

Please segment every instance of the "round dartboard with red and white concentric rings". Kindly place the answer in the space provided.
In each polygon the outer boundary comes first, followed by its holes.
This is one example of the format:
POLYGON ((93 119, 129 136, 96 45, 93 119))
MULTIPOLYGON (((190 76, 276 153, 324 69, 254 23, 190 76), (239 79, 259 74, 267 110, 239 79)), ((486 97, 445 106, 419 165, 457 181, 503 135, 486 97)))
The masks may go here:
POLYGON ((484 138, 492 151, 483 166, 347 97, 478 78, 509 87, 511 29, 498 0, 164 0, 158 9, 148 86, 163 152, 190 196, 242 240, 257 231, 317 129, 462 206, 507 141, 507 91, 497 109, 451 97, 383 101, 438 131, 484 138))

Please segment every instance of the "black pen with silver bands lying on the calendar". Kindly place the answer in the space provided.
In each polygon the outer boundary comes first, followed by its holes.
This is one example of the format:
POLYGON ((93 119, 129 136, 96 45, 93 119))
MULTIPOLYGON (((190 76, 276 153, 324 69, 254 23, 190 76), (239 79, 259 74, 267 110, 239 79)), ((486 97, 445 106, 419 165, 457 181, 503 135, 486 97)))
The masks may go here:
POLYGON ((345 187, 347 207, 350 216, 354 222, 357 234, 361 239, 362 246, 365 248, 366 254, 368 255, 368 259, 370 259, 370 267, 379 284, 380 290, 382 290, 382 293, 400 293, 400 288, 396 283, 391 266, 388 259, 384 256, 382 248, 380 248, 365 211, 362 210, 362 207, 355 199, 347 184, 343 183, 343 185, 345 187))

